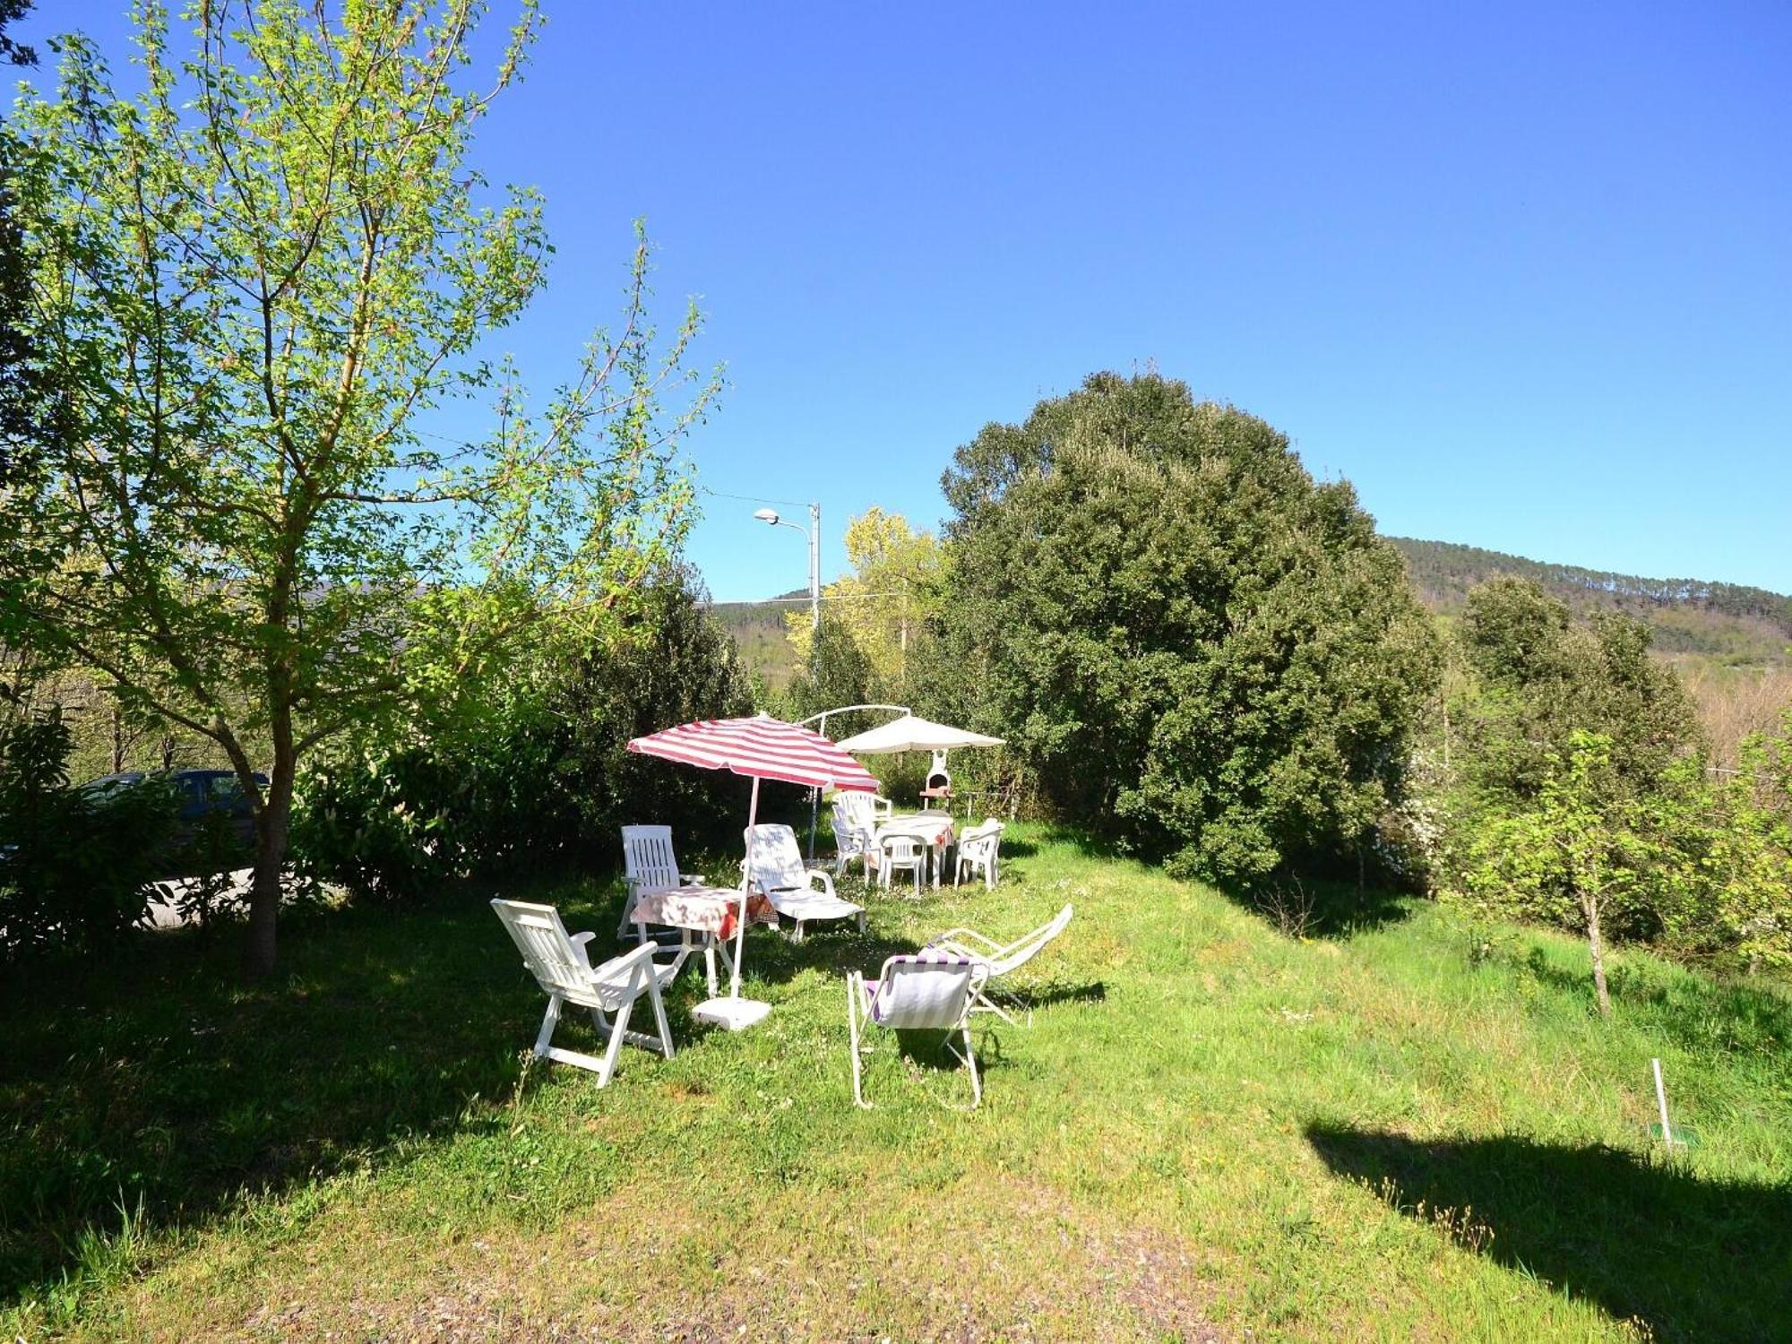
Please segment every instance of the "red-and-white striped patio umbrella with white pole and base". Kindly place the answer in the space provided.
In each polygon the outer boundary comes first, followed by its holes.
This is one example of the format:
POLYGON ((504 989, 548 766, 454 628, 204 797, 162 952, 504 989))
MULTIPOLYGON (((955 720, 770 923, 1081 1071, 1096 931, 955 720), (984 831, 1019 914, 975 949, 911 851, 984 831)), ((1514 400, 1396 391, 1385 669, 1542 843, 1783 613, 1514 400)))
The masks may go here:
MULTIPOLYGON (((706 771, 733 771, 753 780, 747 826, 760 815, 760 780, 781 780, 812 788, 848 788, 876 792, 873 774, 840 747, 812 728, 787 724, 769 713, 753 719, 701 719, 694 724, 665 728, 647 737, 629 738, 629 751, 642 756, 699 765, 706 771)), ((735 977, 728 998, 710 998, 692 1016, 728 1030, 751 1027, 771 1012, 771 1004, 740 996, 740 953, 747 941, 747 883, 740 883, 740 918, 735 934, 735 977)))

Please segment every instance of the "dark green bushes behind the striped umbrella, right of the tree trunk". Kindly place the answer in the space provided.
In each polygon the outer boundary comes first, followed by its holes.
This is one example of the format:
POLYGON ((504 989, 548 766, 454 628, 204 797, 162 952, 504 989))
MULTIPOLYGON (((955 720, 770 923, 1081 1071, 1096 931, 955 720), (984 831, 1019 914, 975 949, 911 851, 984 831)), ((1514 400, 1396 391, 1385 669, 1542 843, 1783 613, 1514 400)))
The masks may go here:
POLYGON ((631 737, 751 713, 729 636, 685 575, 642 615, 484 688, 403 744, 362 744, 306 772, 296 866, 371 900, 471 874, 615 862, 616 828, 667 821, 683 844, 740 824, 738 780, 636 756, 631 737), (726 824, 724 824, 726 823, 726 824))

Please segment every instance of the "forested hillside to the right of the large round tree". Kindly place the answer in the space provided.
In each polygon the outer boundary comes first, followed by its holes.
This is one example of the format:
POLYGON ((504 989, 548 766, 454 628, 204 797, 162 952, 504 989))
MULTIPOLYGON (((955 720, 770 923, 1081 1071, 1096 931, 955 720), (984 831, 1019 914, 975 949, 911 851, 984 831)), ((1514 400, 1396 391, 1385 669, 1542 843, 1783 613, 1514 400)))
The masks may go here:
POLYGON ((1661 652, 1706 654, 1727 663, 1788 661, 1792 597, 1785 593, 1704 579, 1582 570, 1453 541, 1398 536, 1389 541, 1407 557, 1412 586, 1434 611, 1460 609, 1475 584, 1503 573, 1541 584, 1581 616, 1593 611, 1629 613, 1654 631, 1661 652))

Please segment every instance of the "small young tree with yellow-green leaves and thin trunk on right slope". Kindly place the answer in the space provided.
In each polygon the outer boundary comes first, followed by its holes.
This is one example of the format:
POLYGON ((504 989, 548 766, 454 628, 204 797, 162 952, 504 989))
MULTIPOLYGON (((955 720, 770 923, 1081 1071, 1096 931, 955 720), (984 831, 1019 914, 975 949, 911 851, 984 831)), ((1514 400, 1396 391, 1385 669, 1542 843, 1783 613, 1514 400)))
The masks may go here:
POLYGON ((1498 817, 1471 844, 1468 900, 1573 928, 1586 939, 1593 993, 1611 1012, 1606 934, 1613 907, 1643 900, 1645 873, 1667 860, 1640 803, 1624 788, 1602 733, 1570 735, 1550 756, 1536 806, 1498 817))

